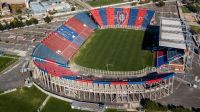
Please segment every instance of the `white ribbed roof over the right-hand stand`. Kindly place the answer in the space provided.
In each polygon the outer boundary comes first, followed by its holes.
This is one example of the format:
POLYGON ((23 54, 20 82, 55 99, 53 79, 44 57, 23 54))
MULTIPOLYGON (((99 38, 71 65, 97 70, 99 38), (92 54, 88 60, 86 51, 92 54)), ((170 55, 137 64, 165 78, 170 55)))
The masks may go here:
POLYGON ((186 49, 183 24, 177 18, 160 19, 159 46, 186 49))

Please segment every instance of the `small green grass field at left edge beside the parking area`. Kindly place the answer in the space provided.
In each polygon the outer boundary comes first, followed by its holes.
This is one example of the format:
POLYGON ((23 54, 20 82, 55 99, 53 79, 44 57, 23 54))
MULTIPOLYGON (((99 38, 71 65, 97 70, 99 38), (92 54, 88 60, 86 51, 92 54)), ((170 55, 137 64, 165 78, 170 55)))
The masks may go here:
POLYGON ((17 61, 18 57, 10 56, 10 55, 5 55, 5 56, 0 56, 0 72, 3 71, 5 68, 13 64, 14 62, 17 61))

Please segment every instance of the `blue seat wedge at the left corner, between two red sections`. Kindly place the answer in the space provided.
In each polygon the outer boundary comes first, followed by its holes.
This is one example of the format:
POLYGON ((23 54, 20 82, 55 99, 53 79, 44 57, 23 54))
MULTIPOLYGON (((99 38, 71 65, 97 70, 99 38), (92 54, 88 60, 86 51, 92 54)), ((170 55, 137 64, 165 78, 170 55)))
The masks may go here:
POLYGON ((61 57, 60 55, 56 54, 55 52, 53 52, 52 50, 50 50, 49 48, 47 48, 46 46, 44 46, 43 44, 38 44, 33 53, 32 53, 32 57, 37 58, 37 59, 43 59, 43 60, 52 60, 55 63, 61 65, 61 66, 67 66, 68 61, 65 60, 63 57, 61 57))

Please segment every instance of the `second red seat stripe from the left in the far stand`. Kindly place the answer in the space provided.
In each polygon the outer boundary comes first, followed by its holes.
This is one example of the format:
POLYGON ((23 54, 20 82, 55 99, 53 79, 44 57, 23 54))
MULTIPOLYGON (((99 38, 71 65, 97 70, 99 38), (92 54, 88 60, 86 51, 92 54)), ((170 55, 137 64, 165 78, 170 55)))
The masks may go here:
POLYGON ((108 25, 115 25, 115 9, 110 7, 106 8, 106 18, 108 25))

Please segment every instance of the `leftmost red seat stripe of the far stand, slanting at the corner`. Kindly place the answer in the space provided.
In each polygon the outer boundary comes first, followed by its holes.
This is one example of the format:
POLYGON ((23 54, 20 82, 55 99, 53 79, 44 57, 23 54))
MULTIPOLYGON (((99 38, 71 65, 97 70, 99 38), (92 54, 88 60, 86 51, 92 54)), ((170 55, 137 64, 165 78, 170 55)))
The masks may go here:
POLYGON ((93 18, 98 23, 98 25, 100 27, 102 27, 103 26, 103 21, 101 20, 101 16, 99 15, 99 10, 98 9, 93 9, 90 12, 92 13, 93 18))

